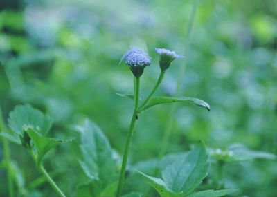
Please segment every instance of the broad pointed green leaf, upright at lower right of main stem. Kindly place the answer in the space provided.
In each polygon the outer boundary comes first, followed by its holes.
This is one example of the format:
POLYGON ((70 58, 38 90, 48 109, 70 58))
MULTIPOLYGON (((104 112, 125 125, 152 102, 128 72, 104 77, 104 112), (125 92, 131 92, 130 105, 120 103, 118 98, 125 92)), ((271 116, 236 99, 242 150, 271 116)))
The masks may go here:
POLYGON ((184 158, 168 165, 162 176, 168 188, 186 196, 197 188, 208 174, 208 154, 204 144, 197 144, 184 158))

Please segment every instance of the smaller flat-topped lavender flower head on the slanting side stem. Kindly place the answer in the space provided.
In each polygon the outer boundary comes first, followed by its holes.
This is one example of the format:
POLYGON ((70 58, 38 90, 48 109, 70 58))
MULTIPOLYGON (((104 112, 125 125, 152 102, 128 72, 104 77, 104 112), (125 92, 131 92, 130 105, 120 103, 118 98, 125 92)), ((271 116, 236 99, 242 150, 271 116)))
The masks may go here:
POLYGON ((174 59, 183 57, 181 55, 177 55, 175 51, 171 51, 166 48, 155 48, 155 50, 160 56, 159 64, 162 71, 166 71, 174 59))

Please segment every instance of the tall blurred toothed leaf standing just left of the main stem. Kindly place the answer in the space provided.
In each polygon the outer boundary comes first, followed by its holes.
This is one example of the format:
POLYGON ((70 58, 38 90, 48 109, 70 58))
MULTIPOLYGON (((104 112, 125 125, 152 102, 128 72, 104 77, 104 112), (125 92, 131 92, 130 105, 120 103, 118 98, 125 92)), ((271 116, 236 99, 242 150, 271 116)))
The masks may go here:
POLYGON ((100 128, 89 120, 81 129, 80 149, 84 158, 80 165, 84 173, 91 180, 98 180, 101 190, 116 181, 116 160, 109 141, 100 128))

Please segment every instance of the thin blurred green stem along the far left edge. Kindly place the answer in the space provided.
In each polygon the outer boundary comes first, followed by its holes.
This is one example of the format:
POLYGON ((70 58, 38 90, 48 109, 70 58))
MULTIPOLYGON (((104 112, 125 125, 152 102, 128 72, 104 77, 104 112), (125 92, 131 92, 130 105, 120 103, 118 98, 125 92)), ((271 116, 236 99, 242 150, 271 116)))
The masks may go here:
MULTIPOLYGON (((3 116, 2 116, 2 111, 1 111, 1 106, 0 106, 0 131, 6 130, 5 124, 3 122, 3 116)), ((6 169, 7 169, 7 174, 8 174, 8 191, 9 191, 9 196, 13 197, 15 196, 14 194, 14 189, 13 189, 13 184, 12 184, 12 173, 10 169, 10 147, 8 144, 8 140, 3 138, 3 151, 4 151, 4 156, 5 156, 5 163, 6 163, 6 169)))

